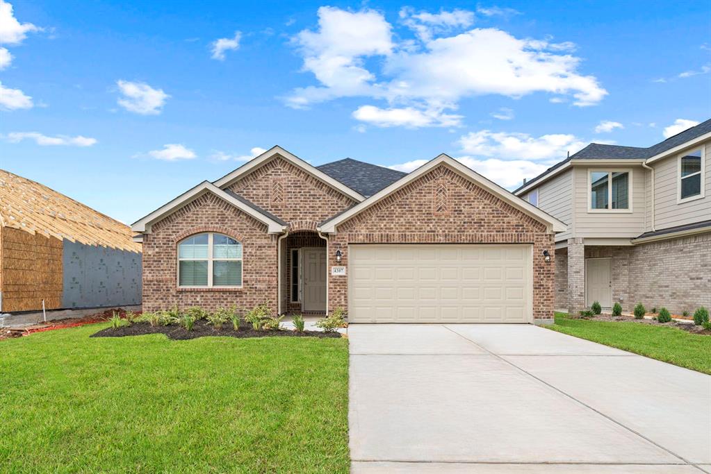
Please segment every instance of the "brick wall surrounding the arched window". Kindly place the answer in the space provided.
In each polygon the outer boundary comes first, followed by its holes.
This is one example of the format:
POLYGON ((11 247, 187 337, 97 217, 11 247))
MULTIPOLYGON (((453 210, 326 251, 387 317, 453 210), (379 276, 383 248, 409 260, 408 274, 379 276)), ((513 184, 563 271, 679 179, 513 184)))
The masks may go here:
POLYGON ((143 309, 177 305, 214 310, 236 304, 244 311, 257 304, 277 307, 277 237, 267 226, 228 202, 204 194, 151 226, 143 241, 143 309), (177 284, 178 243, 194 233, 219 232, 242 242, 242 288, 188 290, 177 284))

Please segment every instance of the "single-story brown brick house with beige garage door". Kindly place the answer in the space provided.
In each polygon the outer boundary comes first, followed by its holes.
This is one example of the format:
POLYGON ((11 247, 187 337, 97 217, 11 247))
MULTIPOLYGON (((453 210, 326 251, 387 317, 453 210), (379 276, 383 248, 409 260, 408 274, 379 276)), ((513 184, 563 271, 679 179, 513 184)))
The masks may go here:
POLYGON ((275 146, 132 226, 147 311, 266 303, 351 322, 552 319, 565 225, 439 155, 405 174, 275 146))

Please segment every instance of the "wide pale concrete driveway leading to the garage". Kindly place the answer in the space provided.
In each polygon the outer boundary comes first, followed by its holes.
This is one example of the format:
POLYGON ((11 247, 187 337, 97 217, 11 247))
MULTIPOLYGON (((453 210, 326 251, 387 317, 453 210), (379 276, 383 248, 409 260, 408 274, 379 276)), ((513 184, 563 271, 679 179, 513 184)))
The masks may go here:
POLYGON ((711 376, 530 325, 353 324, 359 473, 711 473, 711 376))

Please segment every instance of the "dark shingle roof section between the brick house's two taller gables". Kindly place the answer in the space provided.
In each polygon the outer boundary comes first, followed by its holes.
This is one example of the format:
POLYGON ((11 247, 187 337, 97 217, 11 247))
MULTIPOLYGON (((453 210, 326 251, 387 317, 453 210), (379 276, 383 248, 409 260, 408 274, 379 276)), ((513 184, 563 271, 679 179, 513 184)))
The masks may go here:
POLYGON ((351 189, 355 189, 365 197, 373 196, 380 189, 390 186, 390 184, 407 175, 402 171, 371 165, 363 161, 353 160, 353 158, 326 163, 316 168, 334 180, 346 184, 351 189))

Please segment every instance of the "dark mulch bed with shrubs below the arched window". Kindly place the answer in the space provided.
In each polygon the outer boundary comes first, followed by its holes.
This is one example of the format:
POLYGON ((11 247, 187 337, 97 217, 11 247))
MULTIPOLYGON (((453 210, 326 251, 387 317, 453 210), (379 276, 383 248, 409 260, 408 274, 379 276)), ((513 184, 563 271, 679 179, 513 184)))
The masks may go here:
POLYGON ((140 336, 141 334, 165 334, 176 341, 185 341, 186 339, 195 339, 205 336, 228 336, 236 338, 248 337, 318 337, 318 338, 340 338, 341 333, 333 332, 326 333, 323 331, 304 331, 296 332, 289 329, 255 331, 252 326, 247 323, 240 324, 240 329, 235 331, 232 328, 232 323, 228 322, 222 329, 215 329, 208 321, 195 321, 192 331, 187 331, 182 326, 171 324, 170 326, 151 326, 148 323, 134 323, 131 326, 124 326, 119 329, 106 328, 92 334, 91 337, 123 337, 123 336, 140 336))

